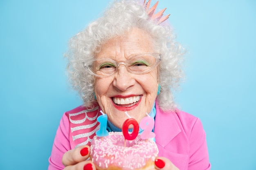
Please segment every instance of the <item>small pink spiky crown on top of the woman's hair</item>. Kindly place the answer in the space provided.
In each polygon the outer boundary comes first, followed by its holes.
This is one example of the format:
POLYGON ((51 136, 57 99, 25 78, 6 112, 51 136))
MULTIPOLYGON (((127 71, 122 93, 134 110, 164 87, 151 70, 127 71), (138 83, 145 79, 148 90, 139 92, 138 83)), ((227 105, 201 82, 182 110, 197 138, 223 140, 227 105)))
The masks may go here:
POLYGON ((158 13, 155 14, 155 10, 157 8, 157 4, 159 1, 157 1, 153 7, 149 8, 151 0, 148 0, 148 2, 146 2, 146 0, 144 0, 144 7, 146 9, 146 12, 148 13, 148 16, 150 17, 150 20, 156 20, 158 21, 157 24, 161 24, 162 22, 164 22, 165 20, 167 20, 170 16, 170 14, 163 16, 165 9, 162 9, 161 11, 159 11, 158 13))

